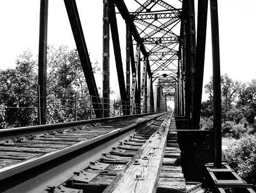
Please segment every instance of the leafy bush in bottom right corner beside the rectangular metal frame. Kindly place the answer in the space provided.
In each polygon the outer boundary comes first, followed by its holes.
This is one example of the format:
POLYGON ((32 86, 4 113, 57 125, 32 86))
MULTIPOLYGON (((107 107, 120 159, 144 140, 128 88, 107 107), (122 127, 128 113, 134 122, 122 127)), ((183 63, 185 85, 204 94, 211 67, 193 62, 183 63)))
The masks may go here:
POLYGON ((256 186, 256 134, 243 136, 237 146, 223 150, 222 156, 242 179, 256 186))

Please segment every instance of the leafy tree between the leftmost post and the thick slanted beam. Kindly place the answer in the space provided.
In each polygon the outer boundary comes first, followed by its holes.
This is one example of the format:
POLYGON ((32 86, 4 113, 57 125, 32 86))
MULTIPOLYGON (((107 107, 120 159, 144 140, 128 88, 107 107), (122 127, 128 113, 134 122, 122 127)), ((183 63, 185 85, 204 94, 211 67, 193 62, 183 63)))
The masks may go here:
MULTIPOLYGON (((93 72, 99 71, 97 62, 93 72)), ((68 46, 48 46, 48 120, 50 118, 61 122, 75 120, 75 95, 77 92, 77 120, 90 117, 90 101, 83 68, 77 50, 69 50, 68 46), (51 97, 50 97, 51 96, 51 97), (56 118, 54 118, 56 117, 56 118)), ((51 122, 49 122, 51 123, 51 122)))

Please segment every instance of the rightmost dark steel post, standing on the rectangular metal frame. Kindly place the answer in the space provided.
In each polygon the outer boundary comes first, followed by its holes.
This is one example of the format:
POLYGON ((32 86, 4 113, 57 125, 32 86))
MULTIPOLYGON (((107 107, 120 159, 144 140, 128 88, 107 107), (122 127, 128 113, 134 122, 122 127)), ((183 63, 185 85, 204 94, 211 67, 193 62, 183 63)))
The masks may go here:
POLYGON ((221 70, 220 42, 217 0, 210 0, 211 40, 213 64, 213 130, 214 130, 214 166, 221 168, 221 70))

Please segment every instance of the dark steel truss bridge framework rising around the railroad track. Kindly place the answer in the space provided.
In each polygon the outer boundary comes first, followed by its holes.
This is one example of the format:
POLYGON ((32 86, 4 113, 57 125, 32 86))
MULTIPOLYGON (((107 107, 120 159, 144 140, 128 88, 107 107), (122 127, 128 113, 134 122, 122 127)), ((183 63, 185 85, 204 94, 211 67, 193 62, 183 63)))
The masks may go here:
MULTIPOLYGON (((103 0, 103 35, 96 37, 103 38, 102 102, 99 100, 76 2, 64 0, 64 3, 89 94, 96 96, 92 98, 96 118, 109 117, 110 49, 113 49, 123 114, 153 113, 156 109, 166 111, 167 101, 171 100, 175 104, 177 129, 184 130, 183 133, 190 132, 191 136, 200 129, 206 26, 210 7, 214 95, 214 129, 211 132, 213 166, 216 170, 223 170, 217 0, 198 0, 196 13, 194 0, 103 0), (122 52, 125 53, 125 60, 122 60, 124 57, 121 55, 120 21, 117 22, 117 15, 122 17, 126 26, 126 47, 122 52)), ((41 0, 38 106, 42 125, 46 124, 47 106, 47 23, 48 0, 41 0)))

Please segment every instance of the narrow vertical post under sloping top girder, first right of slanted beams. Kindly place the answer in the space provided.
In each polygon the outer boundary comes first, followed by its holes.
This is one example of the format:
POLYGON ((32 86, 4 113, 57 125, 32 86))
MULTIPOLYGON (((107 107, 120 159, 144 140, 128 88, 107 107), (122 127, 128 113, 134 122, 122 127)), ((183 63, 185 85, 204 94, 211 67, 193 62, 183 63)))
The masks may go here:
POLYGON ((131 35, 130 35, 130 23, 128 21, 125 22, 126 23, 126 100, 127 100, 127 104, 126 105, 126 115, 130 114, 130 42, 132 41, 131 39, 131 35))

